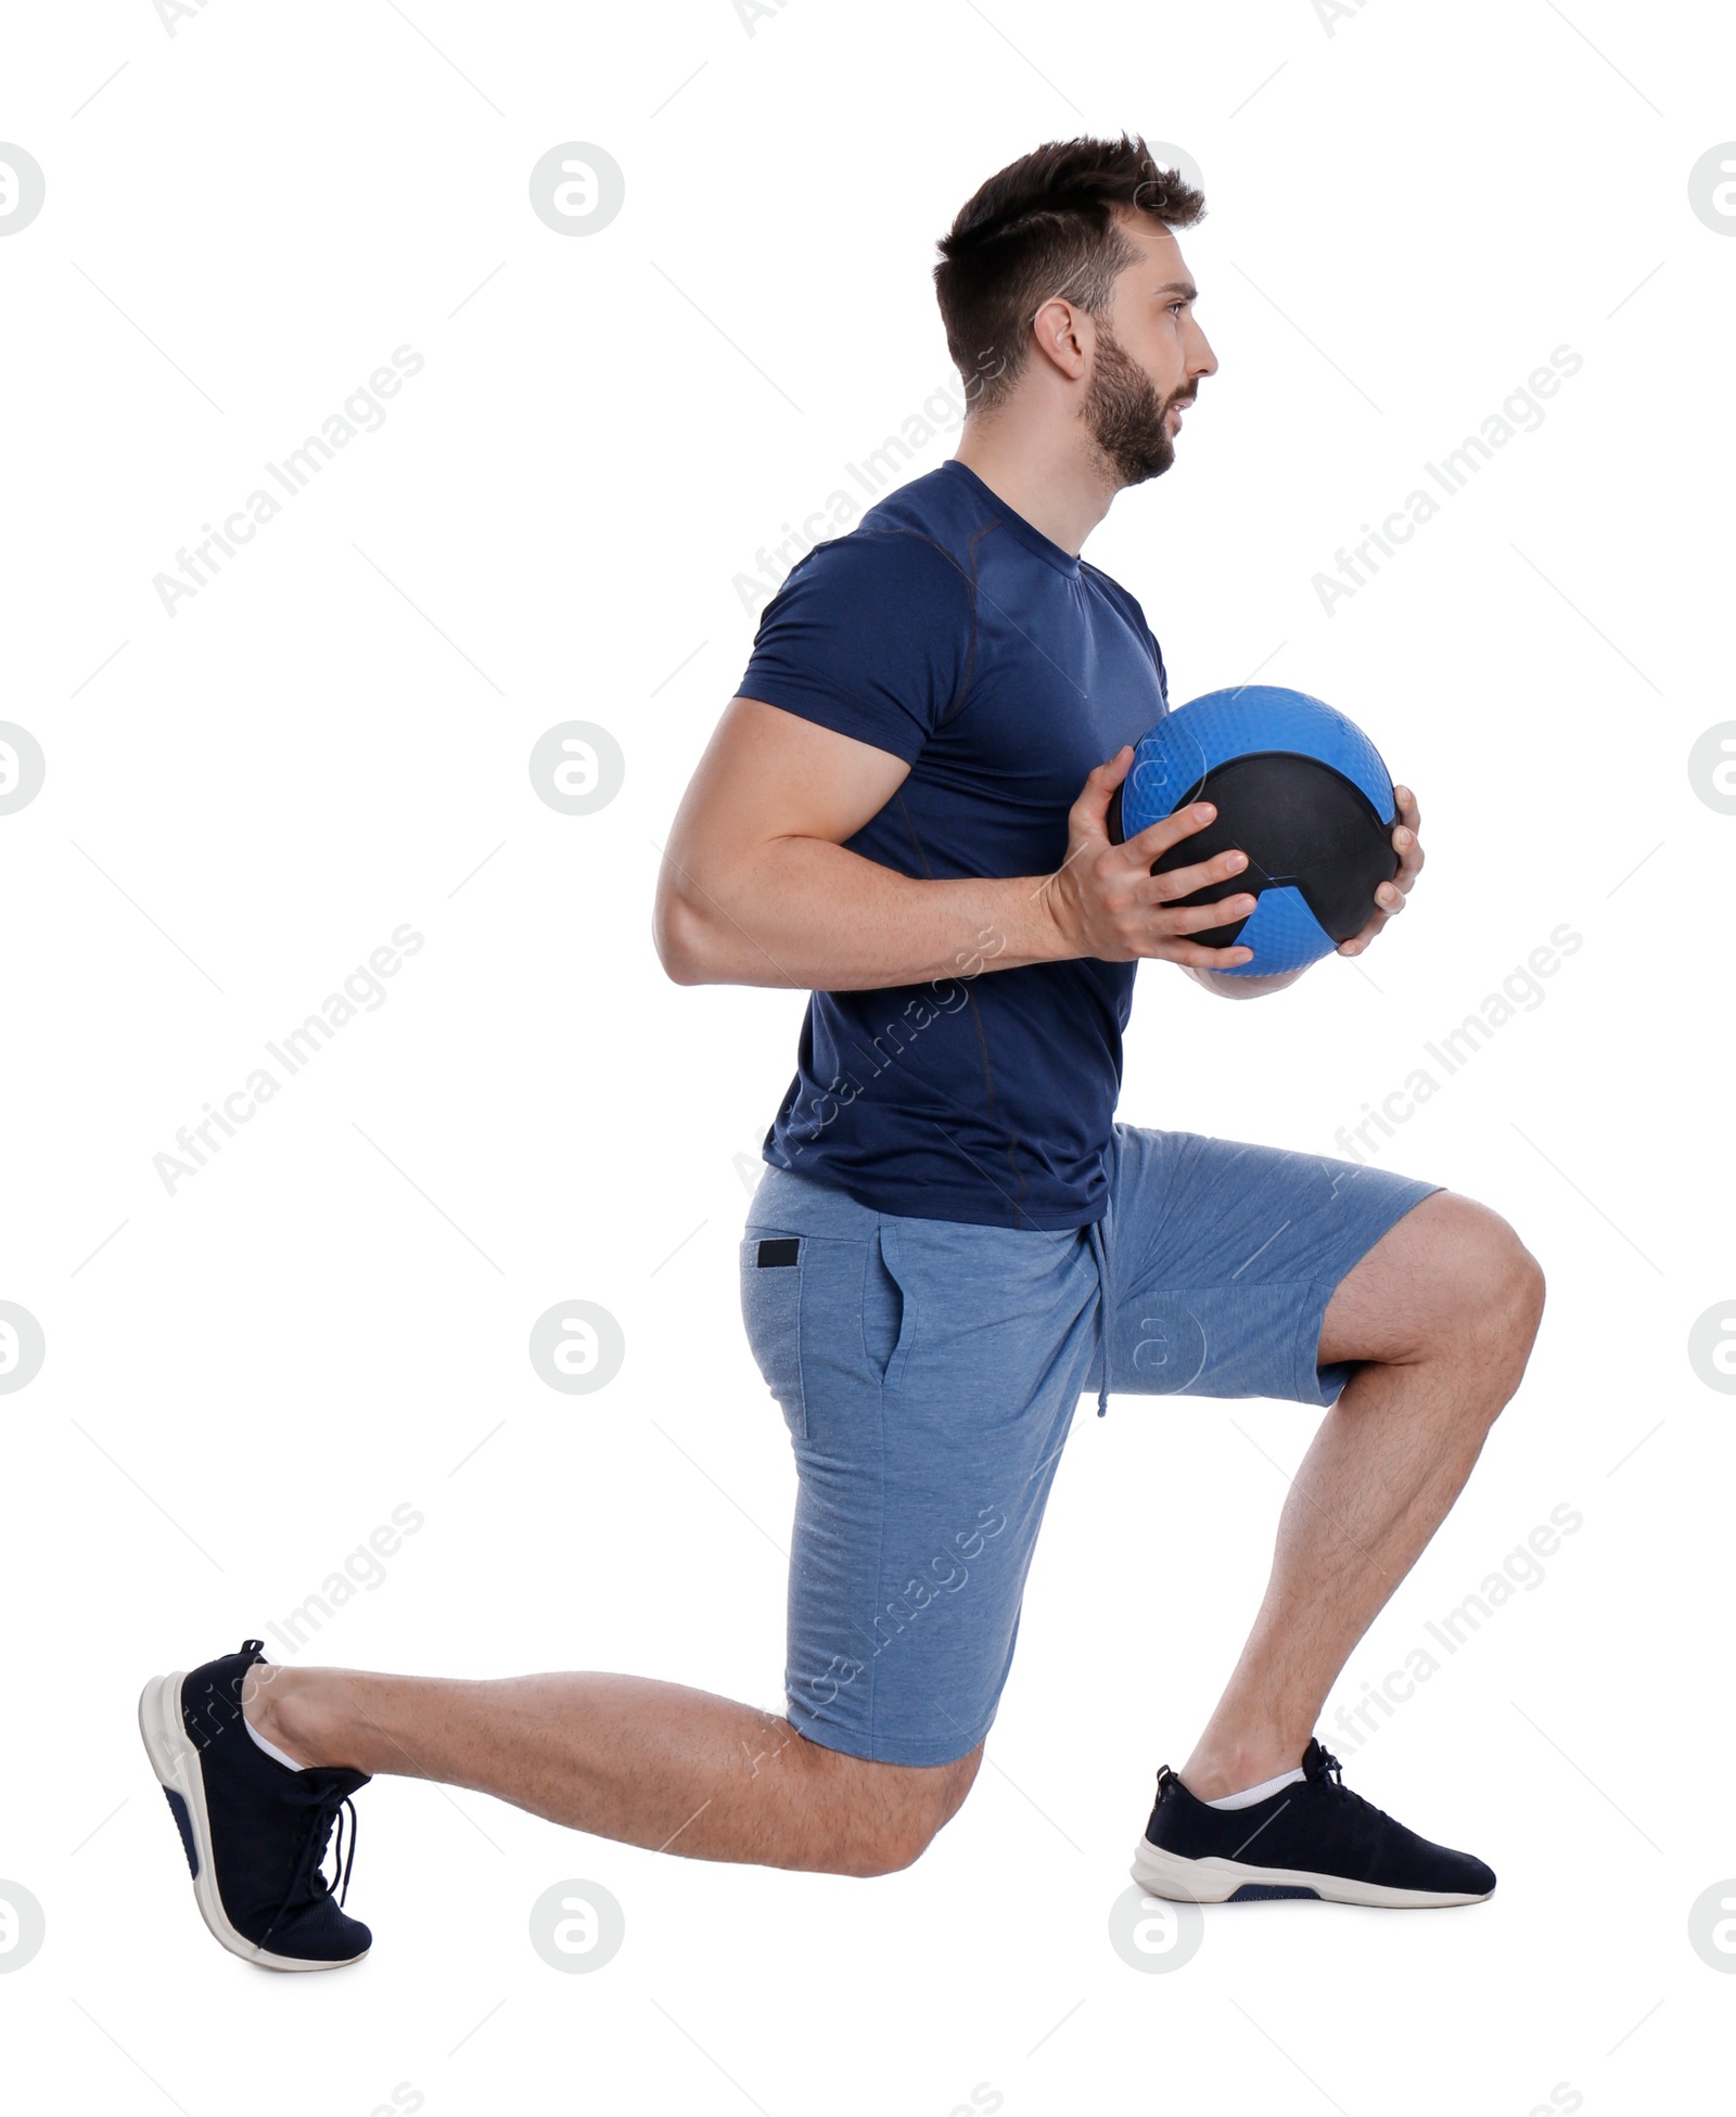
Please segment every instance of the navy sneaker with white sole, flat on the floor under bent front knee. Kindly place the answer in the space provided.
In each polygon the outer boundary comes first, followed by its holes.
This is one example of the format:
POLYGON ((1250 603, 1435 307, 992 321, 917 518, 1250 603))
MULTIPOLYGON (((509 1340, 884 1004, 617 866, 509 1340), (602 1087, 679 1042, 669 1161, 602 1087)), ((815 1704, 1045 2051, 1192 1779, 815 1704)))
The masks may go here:
POLYGON ((1429 1844, 1351 1793, 1338 1759, 1313 1738, 1302 1772, 1249 1808, 1209 1808, 1164 1766, 1133 1880, 1177 1903, 1315 1897, 1408 1910, 1493 1895, 1480 1859, 1429 1844))

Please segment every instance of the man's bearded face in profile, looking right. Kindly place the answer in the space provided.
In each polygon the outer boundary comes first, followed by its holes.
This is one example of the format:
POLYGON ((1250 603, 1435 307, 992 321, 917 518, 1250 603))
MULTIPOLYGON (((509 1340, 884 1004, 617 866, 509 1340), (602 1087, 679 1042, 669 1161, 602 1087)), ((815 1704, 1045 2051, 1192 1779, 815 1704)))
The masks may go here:
POLYGON ((1082 417, 1118 485, 1160 478, 1175 462, 1181 409, 1194 402, 1217 356, 1194 322, 1196 288, 1162 222, 1122 218, 1139 256, 1116 279, 1097 320, 1097 351, 1082 417))

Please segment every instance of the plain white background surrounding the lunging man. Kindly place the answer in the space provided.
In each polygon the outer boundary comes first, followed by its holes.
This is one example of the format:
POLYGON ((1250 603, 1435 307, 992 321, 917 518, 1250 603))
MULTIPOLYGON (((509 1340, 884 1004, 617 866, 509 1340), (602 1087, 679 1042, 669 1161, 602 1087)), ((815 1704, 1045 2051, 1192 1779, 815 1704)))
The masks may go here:
POLYGON ((47 1334, 0 1397, 0 1878, 47 1912, 0 1977, 21 2106, 1702 2106, 1736 1996, 1687 1939, 1736 1876, 1736 1463, 1687 1334, 1736 1293, 1736 819, 1687 754, 1736 718, 1736 241, 1687 171, 1736 135, 1730 25, 1611 0, 1368 0, 1330 30, 1313 0, 76 17, 0 38, 0 138, 47 171, 0 241, 0 718, 47 754, 0 817, 0 1298, 47 1334), (252 1971, 188 1901, 133 1698, 396 1505, 423 1526, 324 1658, 781 1704, 794 1478, 737 1315, 737 1156, 802 997, 663 978, 656 847, 747 658, 733 576, 948 377, 934 239, 1016 155, 1122 125, 1205 174, 1183 252, 1222 373, 1086 555, 1141 597, 1177 701, 1264 663, 1353 713, 1429 851, 1361 967, 1258 1006, 1147 967, 1122 1114, 1338 1152, 1423 1039, 1584 936, 1382 1143, 1505 1213, 1550 1310, 1323 1730, 1577 1509, 1541 1586, 1346 1757, 1501 1888, 1209 1914, 1162 1975, 1116 1956, 1154 1770, 1230 1668, 1315 1423, 1120 1399, 1075 1427, 989 1761, 915 1869, 658 1859, 387 1780, 349 1899, 370 1960, 252 1971), (584 239, 527 203, 574 140, 627 176, 584 239), (178 546, 398 345, 426 366, 387 423, 165 614, 178 546), (1327 616, 1310 576, 1558 345, 1584 368, 1545 423, 1327 616), (627 785, 572 819, 527 758, 578 718, 627 785), (385 1003, 169 1196, 176 1128, 404 921, 426 946, 385 1003), (627 1334, 591 1397, 525 1353, 574 1298, 627 1334), (527 1939, 567 1878, 627 1912, 591 1977, 527 1939))

